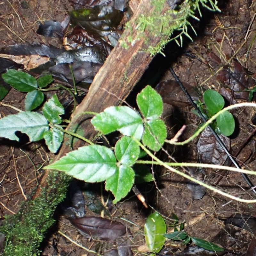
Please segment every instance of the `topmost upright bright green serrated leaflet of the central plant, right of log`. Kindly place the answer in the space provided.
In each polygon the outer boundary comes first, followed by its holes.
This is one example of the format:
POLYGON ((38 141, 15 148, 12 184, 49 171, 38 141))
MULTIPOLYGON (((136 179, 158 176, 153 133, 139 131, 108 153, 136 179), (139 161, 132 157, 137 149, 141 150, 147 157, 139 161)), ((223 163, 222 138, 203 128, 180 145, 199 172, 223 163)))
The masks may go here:
POLYGON ((137 104, 145 119, 151 120, 161 116, 163 101, 161 96, 149 85, 138 95, 137 104))

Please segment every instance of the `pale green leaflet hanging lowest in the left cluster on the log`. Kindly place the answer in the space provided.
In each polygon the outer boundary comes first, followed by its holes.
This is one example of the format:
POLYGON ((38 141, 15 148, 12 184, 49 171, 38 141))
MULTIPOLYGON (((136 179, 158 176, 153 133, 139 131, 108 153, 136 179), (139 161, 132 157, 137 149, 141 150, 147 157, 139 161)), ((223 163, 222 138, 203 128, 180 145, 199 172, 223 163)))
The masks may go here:
MULTIPOLYGON (((56 126, 61 128, 60 125, 56 124, 56 126)), ((56 153, 60 148, 60 145, 63 141, 63 134, 64 133, 62 131, 54 127, 50 128, 50 130, 44 133, 45 143, 52 153, 56 153)))

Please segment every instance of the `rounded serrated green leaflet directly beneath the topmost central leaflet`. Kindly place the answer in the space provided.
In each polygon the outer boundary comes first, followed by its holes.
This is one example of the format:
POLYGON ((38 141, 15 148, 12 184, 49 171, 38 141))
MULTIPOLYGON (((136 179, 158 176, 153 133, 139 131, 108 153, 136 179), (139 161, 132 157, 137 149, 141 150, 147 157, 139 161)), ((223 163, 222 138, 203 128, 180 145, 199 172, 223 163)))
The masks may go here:
POLYGON ((142 142, 153 151, 158 151, 166 139, 166 126, 160 119, 153 119, 145 124, 142 142))

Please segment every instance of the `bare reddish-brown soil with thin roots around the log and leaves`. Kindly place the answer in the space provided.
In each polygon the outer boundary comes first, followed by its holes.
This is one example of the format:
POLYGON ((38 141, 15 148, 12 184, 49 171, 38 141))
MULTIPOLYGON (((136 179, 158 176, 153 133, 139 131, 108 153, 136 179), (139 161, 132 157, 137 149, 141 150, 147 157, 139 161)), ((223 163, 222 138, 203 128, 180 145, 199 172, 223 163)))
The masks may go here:
MULTIPOLYGON (((2 35, 0 47, 24 42, 52 44, 60 47, 61 40, 59 38, 46 38, 36 34, 37 22, 47 19, 62 21, 67 15, 67 11, 72 9, 68 1, 13 1, 10 3, 4 0, 0 4, 0 31, 2 35)), ((234 59, 248 70, 248 79, 255 80, 255 9, 256 4, 250 1, 229 1, 221 6, 221 13, 216 13, 215 16, 211 14, 211 19, 205 18, 207 25, 203 32, 199 33, 199 37, 194 42, 188 44, 185 49, 186 54, 180 56, 173 64, 180 80, 195 86, 201 92, 202 88, 220 91, 220 88, 227 86, 227 81, 221 79, 220 76, 224 76, 224 71, 234 69, 234 59)), ((169 71, 166 71, 163 80, 165 79, 173 79, 169 71)), ((12 89, 3 102, 23 110, 24 98, 24 93, 12 89)), ((234 99, 238 102, 246 101, 238 97, 234 99)), ((1 117, 17 113, 10 107, 1 106, 0 110, 1 117)), ((182 139, 193 134, 199 119, 190 110, 191 107, 173 111, 172 107, 165 104, 165 120, 169 126, 168 137, 172 137, 181 124, 188 125, 182 139)), ((250 108, 240 108, 233 112, 236 122, 239 124, 236 134, 231 137, 233 152, 236 152, 252 132, 251 117, 253 114, 253 110, 250 108)), ((31 191, 36 188, 37 180, 42 174, 42 167, 51 158, 51 154, 42 143, 27 142, 27 137, 22 137, 19 143, 13 144, 7 140, 1 140, 1 217, 18 212, 24 198, 29 197, 31 191)), ((183 148, 166 146, 165 149, 177 161, 197 161, 196 143, 197 140, 194 140, 183 148)), ((246 148, 251 150, 251 153, 249 152, 251 158, 240 164, 243 168, 255 170, 254 137, 248 142, 246 148)), ((168 161, 168 157, 163 153, 160 157, 168 161)), ((157 189, 154 182, 140 185, 138 188, 146 197, 148 204, 159 211, 166 220, 172 221, 172 213, 175 213, 180 221, 188 222, 204 213, 205 216, 202 220, 186 228, 191 236, 210 241, 223 228, 223 221, 219 220, 220 218, 229 217, 236 212, 248 215, 255 215, 256 213, 255 204, 229 202, 228 198, 210 190, 207 190, 206 195, 201 200, 193 200, 186 181, 178 174, 156 167, 154 167, 154 172, 157 189)), ((218 177, 218 173, 215 175, 212 173, 207 176, 206 182, 214 185, 218 177)), ((256 184, 255 176, 250 176, 250 179, 253 184, 256 184)), ((230 194, 242 196, 244 199, 254 197, 251 192, 246 192, 249 187, 239 173, 227 172, 218 187, 230 194)), ((97 196, 98 200, 102 202, 100 186, 97 196)), ((102 198, 105 202, 107 201, 104 196, 102 198)), ((88 214, 94 214, 88 209, 86 211, 88 214)), ((143 255, 137 249, 138 246, 145 244, 143 225, 150 212, 151 208, 148 210, 143 208, 132 193, 109 211, 113 218, 122 217, 123 220, 119 221, 122 221, 130 229, 131 235, 128 236, 132 243, 134 255, 143 255)), ((58 231, 90 250, 98 253, 108 250, 105 249, 108 246, 105 242, 85 238, 70 225, 68 220, 60 215, 56 216, 58 222, 49 231, 47 239, 44 241, 42 255, 95 255, 93 252, 86 252, 71 243, 58 231)), ((173 248, 176 248, 175 251, 181 250, 180 244, 178 247, 166 246, 169 254, 174 251, 173 248)))

